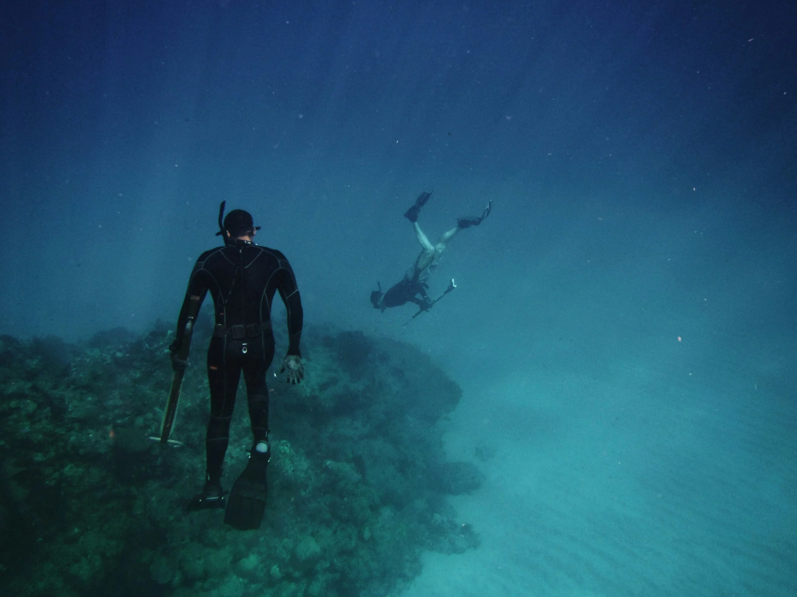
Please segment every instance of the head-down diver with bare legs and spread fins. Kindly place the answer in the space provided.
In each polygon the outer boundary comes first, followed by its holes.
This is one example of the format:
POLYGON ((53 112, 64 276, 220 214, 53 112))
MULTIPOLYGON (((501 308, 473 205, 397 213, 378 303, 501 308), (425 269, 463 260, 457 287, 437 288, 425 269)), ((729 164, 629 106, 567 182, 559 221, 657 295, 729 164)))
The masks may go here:
MULTIPOLYGON (((434 300, 426 295, 426 290, 429 288, 426 280, 429 279, 431 271, 438 266, 440 256, 442 256, 442 252, 446 250, 446 244, 460 230, 481 224, 482 220, 489 216, 490 209, 493 205, 493 201, 489 201, 481 216, 457 218, 457 225, 448 232, 444 232, 438 239, 437 244, 431 244, 429 239, 426 238, 426 234, 423 233, 421 227, 418 225, 418 213, 420 213, 421 208, 426 204, 426 201, 429 201, 429 197, 431 196, 431 191, 424 191, 418 195, 418 199, 415 200, 415 205, 407 209, 404 214, 404 217, 412 222, 415 236, 418 238, 418 243, 421 244, 422 250, 418 258, 415 259, 415 263, 413 263, 412 267, 407 269, 404 278, 400 282, 395 283, 387 292, 382 292, 381 286, 378 291, 371 292, 371 304, 375 309, 384 311, 390 307, 402 306, 407 302, 414 302, 420 309, 418 313, 430 310, 432 305, 434 305, 434 300)), ((453 289, 453 280, 449 287, 449 290, 451 289, 453 289)), ((442 295, 438 298, 441 297, 442 295)))

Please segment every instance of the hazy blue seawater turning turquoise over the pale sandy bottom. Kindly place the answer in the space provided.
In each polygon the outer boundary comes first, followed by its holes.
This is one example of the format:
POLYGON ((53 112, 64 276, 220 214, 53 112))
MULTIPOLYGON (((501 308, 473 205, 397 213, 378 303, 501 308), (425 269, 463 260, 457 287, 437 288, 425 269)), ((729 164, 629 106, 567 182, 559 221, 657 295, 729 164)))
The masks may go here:
MULTIPOLYGON (((481 546, 404 595, 795 595, 789 2, 2 8, 0 333, 176 318, 218 203, 463 388, 481 546), (451 242, 403 324, 369 293, 451 242)), ((275 321, 280 321, 275 316, 275 321)))

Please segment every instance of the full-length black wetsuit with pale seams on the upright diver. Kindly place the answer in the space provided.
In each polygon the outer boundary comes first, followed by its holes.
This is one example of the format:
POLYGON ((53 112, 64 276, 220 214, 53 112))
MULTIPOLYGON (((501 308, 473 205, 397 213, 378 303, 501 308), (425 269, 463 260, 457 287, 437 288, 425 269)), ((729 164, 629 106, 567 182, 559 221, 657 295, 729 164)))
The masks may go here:
POLYGON ((182 340, 192 295, 213 297, 216 326, 207 351, 210 382, 210 423, 207 427, 207 474, 218 481, 230 439, 230 419, 241 370, 246 383, 249 420, 255 443, 269 435, 269 391, 265 373, 274 357, 271 305, 280 293, 288 311, 288 354, 300 357, 302 308, 296 279, 288 260, 275 250, 245 240, 206 251, 199 256, 177 322, 175 351, 182 340))

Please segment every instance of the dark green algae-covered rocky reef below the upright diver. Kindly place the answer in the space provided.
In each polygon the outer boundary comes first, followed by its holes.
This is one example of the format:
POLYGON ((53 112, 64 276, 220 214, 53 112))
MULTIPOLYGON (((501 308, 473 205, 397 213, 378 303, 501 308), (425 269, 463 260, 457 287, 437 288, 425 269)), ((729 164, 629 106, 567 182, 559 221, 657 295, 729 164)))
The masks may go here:
MULTIPOLYGON (((167 326, 77 346, 0 338, 0 536, 13 538, 0 541, 3 595, 389 595, 423 550, 477 545, 446 494, 475 489, 481 473, 445 462, 437 424, 460 388, 410 345, 329 328, 305 331, 303 384, 269 373, 262 528, 186 513, 204 470, 209 330, 194 338, 177 449, 147 440, 171 381, 167 326)), ((238 402, 226 487, 251 441, 243 386, 238 402)))

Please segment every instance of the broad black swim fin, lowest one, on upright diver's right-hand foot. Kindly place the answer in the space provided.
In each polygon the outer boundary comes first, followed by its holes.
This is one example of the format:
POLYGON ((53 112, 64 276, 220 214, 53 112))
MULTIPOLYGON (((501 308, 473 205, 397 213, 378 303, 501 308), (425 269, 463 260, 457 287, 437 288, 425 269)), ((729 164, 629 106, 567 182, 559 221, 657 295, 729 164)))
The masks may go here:
POLYGON ((227 509, 224 511, 226 525, 240 531, 260 529, 265 511, 265 469, 270 458, 270 447, 265 454, 256 450, 249 454, 246 468, 227 497, 227 509))

